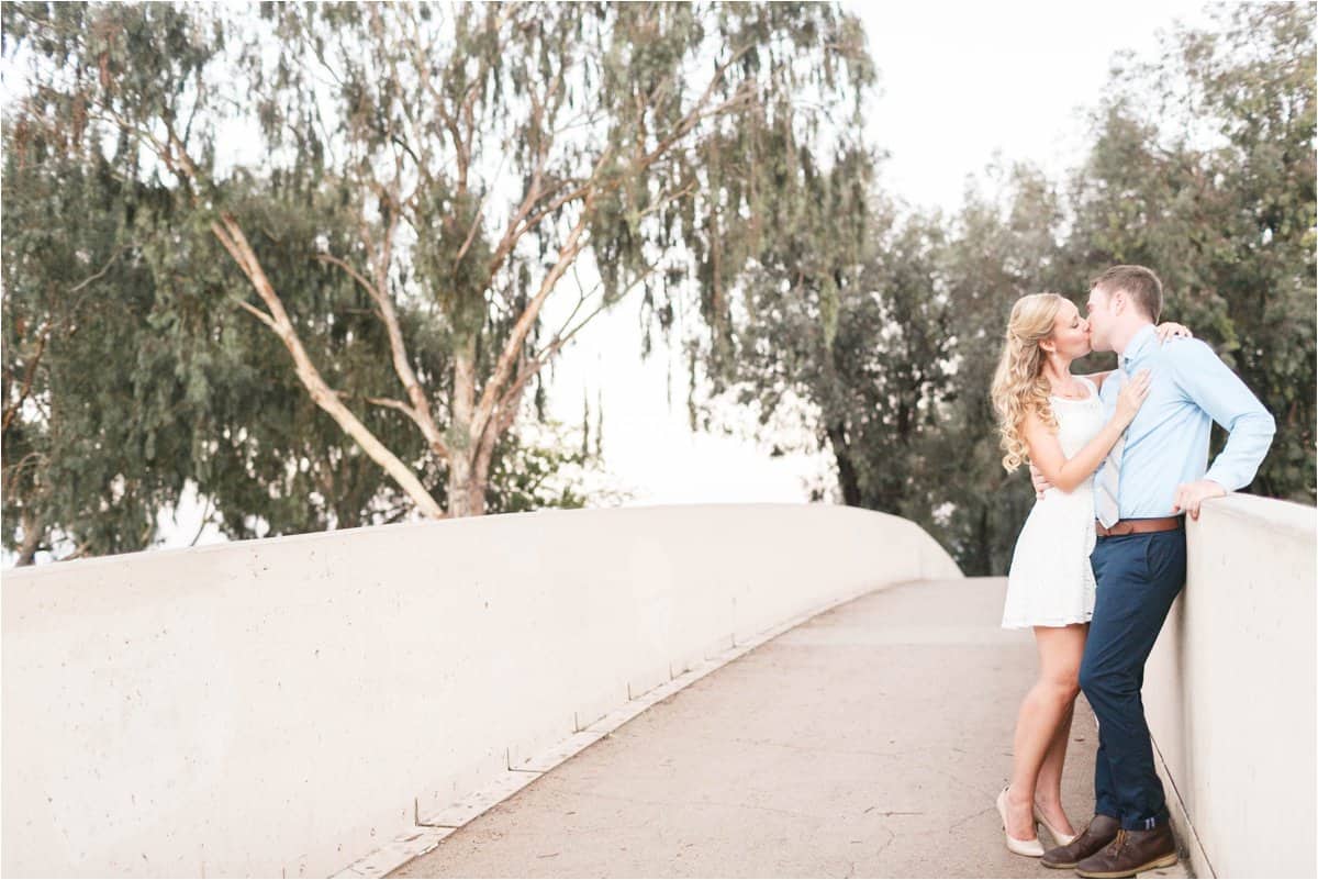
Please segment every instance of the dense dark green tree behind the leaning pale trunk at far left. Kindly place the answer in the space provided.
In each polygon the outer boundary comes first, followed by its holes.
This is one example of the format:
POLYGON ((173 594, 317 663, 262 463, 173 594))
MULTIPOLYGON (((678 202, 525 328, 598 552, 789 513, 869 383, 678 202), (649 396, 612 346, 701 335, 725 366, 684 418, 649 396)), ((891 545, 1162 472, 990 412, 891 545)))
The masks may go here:
MULTIPOLYGON (((207 307, 225 279, 178 234, 173 194, 125 178, 128 144, 61 141, 49 121, 16 113, 4 126, 0 457, 4 541, 17 564, 38 551, 70 559, 149 547, 188 482, 231 537, 399 518, 378 466, 299 394, 278 341, 207 307)), ((314 266, 311 234, 281 225, 286 242, 303 238, 295 262, 314 266)), ((341 314, 314 350, 345 387, 369 387, 387 343, 353 308, 357 291, 337 273, 320 275, 301 281, 299 295, 314 290, 341 314)), ((411 433, 386 419, 372 429, 393 444, 411 433)), ((538 451, 518 454, 543 464, 538 451)), ((496 509, 526 506, 519 481, 494 486, 496 509)))

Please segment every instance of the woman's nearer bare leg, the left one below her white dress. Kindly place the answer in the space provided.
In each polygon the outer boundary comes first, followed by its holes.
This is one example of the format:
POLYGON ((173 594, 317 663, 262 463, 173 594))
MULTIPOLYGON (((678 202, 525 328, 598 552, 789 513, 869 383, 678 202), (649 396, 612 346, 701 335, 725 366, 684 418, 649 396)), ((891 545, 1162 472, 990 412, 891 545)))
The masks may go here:
MULTIPOLYGON (((1035 838, 1033 800, 1040 768, 1079 693, 1085 630, 1083 624, 1035 627, 1039 681, 1020 703, 1012 747, 1011 788, 1007 792, 1007 834, 1020 840, 1035 838)), ((1065 740, 1062 747, 1065 748, 1065 740)))

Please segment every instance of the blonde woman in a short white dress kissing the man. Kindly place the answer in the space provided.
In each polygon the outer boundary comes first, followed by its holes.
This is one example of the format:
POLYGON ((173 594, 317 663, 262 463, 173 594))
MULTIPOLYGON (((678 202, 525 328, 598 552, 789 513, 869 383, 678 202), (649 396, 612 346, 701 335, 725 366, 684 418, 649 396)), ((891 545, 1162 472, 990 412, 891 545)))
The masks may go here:
MULTIPOLYGON (((1161 324, 1159 339, 1189 336, 1161 324)), ((1127 382, 1111 419, 1098 387, 1107 373, 1072 375, 1090 353, 1089 324, 1057 294, 1023 296, 1011 310, 1007 339, 992 381, 1002 464, 1012 472, 1033 462, 1052 482, 1016 540, 1002 626, 1032 627, 1040 677, 1016 721, 1011 784, 998 796, 1007 848, 1037 858, 1044 847, 1036 821, 1058 846, 1074 839, 1061 804, 1062 764, 1079 693, 1085 634, 1094 614, 1093 477, 1148 395, 1148 371, 1127 382)))

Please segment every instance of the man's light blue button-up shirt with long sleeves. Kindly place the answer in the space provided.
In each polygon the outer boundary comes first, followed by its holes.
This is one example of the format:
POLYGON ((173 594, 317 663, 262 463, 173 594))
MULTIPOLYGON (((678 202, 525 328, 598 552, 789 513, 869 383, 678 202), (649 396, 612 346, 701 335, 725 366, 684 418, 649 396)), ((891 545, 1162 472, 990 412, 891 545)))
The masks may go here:
MULTIPOLYGON (((1122 519, 1172 516, 1176 487, 1211 480, 1227 491, 1253 480, 1277 432, 1276 422, 1244 382, 1197 339, 1159 344, 1149 324, 1122 358, 1126 375, 1149 370, 1149 395, 1126 431, 1118 506, 1122 519), (1228 432, 1227 445, 1209 468, 1213 422, 1228 432)), ((1123 377, 1103 382, 1108 418, 1123 377)))

